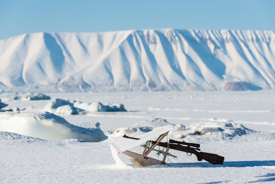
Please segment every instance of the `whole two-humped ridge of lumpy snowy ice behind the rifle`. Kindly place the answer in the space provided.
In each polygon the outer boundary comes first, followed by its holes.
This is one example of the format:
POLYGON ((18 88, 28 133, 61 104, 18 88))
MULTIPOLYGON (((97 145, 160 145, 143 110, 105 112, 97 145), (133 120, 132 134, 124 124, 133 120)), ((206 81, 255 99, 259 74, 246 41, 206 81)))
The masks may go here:
POLYGON ((216 139, 227 139, 228 137, 233 138, 255 132, 254 130, 248 129, 241 124, 230 122, 198 122, 185 127, 182 124, 174 125, 162 118, 150 118, 130 127, 118 128, 113 134, 110 134, 109 137, 121 137, 124 134, 136 136, 166 125, 173 125, 175 128, 169 132, 169 139, 183 139, 192 135, 204 135, 209 137, 212 136, 216 139))

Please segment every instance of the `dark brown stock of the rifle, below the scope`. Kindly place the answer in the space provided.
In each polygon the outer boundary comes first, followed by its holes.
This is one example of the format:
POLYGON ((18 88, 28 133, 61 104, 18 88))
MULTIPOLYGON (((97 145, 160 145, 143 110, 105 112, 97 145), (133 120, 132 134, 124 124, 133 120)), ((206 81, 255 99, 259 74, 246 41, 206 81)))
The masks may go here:
MULTIPOLYGON (((155 141, 152 141, 152 143, 156 144, 155 141)), ((159 146, 167 148, 168 144, 160 142, 159 146)), ((169 144, 169 148, 174 149, 174 150, 178 150, 178 151, 184 151, 186 153, 192 153, 192 154, 196 155, 198 161, 202 161, 204 159, 204 160, 206 160, 207 162, 209 162, 211 164, 223 164, 224 157, 219 156, 217 154, 206 153, 206 152, 198 152, 193 148, 190 148, 188 146, 182 146, 182 145, 179 145, 179 144, 169 144)))

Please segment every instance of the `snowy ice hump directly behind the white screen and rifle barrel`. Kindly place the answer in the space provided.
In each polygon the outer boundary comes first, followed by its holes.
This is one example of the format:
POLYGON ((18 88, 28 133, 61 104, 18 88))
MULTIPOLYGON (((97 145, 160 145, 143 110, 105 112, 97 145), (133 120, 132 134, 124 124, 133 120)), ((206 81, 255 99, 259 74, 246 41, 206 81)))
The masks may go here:
POLYGON ((165 119, 151 117, 148 120, 142 120, 140 123, 136 123, 131 127, 118 128, 113 134, 110 135, 110 137, 121 137, 124 134, 131 134, 130 136, 136 136, 165 125, 174 126, 174 124, 167 122, 165 119))

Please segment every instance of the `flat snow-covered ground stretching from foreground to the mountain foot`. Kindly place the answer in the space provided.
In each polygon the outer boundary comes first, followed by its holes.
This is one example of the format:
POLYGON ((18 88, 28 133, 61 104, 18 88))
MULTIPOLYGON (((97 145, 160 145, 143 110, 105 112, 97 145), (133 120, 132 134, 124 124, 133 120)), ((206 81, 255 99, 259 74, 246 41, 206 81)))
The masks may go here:
MULTIPOLYGON (((274 91, 46 95, 51 99, 75 100, 87 104, 123 104, 128 111, 59 115, 68 123, 85 130, 94 128, 99 122, 100 129, 109 135, 109 139, 98 143, 76 139, 41 140, 11 132, 0 132, 1 183, 275 182, 274 91), (110 144, 122 138, 113 136, 113 132, 129 130, 127 133, 134 135, 168 123, 177 125, 179 130, 171 135, 181 135, 185 137, 181 139, 183 141, 201 144, 204 152, 224 156, 224 164, 197 162, 194 155, 187 156, 184 152, 174 150, 170 152, 178 158, 169 157, 172 163, 169 160, 167 163, 170 166, 129 169, 115 164, 110 144), (130 130, 133 130, 133 133, 130 130)), ((22 117, 24 113, 41 114, 41 110, 51 100, 6 99, 2 102, 8 104, 2 110, 26 108, 20 110, 20 116, 14 114, 22 117)), ((0 118, 3 114, 12 113, 0 112, 0 118)), ((5 116, 7 118, 7 115, 5 116)), ((9 121, 14 123, 10 119, 9 121)), ((142 148, 138 146, 132 150, 141 152, 142 148)), ((151 156, 158 158, 154 153, 151 156)), ((125 164, 132 165, 130 157, 120 155, 120 158, 125 164)))

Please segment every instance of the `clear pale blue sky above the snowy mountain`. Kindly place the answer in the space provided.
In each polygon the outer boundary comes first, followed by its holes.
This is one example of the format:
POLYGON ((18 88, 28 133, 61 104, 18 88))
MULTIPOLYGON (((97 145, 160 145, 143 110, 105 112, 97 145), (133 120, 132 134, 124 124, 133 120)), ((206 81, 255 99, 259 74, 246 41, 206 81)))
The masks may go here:
POLYGON ((275 30, 275 0, 0 0, 0 39, 34 32, 275 30))

